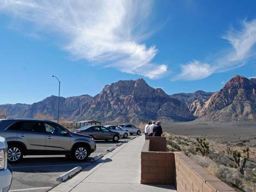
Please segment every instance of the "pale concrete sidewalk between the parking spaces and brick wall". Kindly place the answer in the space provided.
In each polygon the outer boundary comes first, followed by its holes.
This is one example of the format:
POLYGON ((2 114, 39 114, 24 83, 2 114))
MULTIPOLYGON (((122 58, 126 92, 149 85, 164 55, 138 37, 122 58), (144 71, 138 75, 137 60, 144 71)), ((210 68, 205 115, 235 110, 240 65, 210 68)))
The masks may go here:
POLYGON ((129 141, 108 153, 94 168, 86 168, 88 170, 83 170, 51 191, 176 191, 170 185, 140 184, 141 150, 144 142, 143 136, 129 141))

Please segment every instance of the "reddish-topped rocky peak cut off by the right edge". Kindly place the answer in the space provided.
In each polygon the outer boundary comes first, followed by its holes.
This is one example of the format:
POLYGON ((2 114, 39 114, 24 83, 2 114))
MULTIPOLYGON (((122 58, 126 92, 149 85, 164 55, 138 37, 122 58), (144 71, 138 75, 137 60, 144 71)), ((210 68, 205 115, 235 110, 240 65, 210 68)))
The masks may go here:
POLYGON ((208 121, 256 120, 256 84, 245 77, 235 76, 205 102, 198 113, 208 121))

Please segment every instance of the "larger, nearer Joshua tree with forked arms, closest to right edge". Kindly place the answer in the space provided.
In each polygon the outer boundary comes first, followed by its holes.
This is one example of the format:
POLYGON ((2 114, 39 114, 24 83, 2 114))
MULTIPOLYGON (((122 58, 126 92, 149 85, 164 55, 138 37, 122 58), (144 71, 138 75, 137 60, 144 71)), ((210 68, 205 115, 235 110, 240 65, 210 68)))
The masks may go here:
POLYGON ((243 148, 242 151, 230 150, 230 147, 227 147, 227 153, 231 154, 231 156, 233 157, 237 167, 237 171, 240 174, 245 175, 245 165, 249 158, 249 147, 243 148), (242 153, 244 154, 243 156, 241 155, 242 153))

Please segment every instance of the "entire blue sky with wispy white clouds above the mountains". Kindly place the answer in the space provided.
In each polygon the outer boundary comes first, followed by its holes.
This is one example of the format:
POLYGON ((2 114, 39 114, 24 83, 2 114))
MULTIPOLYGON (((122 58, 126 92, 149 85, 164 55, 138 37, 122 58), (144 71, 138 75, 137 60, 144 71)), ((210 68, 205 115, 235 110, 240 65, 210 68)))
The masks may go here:
POLYGON ((32 1, 0 4, 0 104, 96 95, 144 78, 167 94, 256 76, 254 1, 32 1))

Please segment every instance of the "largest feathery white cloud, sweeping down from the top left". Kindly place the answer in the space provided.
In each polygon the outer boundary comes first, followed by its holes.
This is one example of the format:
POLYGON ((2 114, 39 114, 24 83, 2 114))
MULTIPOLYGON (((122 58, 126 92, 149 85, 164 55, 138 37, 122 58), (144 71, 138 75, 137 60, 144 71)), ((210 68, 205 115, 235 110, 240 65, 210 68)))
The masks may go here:
POLYGON ((64 37, 63 48, 77 59, 154 79, 168 67, 155 64, 157 48, 142 43, 152 6, 148 0, 2 0, 0 13, 64 37))

